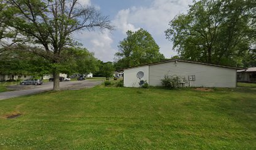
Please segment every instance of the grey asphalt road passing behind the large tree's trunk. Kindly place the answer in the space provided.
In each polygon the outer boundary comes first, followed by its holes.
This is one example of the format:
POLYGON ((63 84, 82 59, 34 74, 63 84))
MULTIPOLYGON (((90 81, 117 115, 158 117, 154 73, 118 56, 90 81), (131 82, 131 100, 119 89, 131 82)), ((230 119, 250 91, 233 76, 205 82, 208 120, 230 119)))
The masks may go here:
MULTIPOLYGON (((83 88, 92 88, 93 86, 97 86, 101 84, 102 81, 66 81, 60 82, 61 90, 76 90, 83 88)), ((42 85, 16 85, 16 86, 8 86, 8 89, 16 90, 16 91, 8 91, 0 93, 0 100, 16 98, 19 96, 42 93, 45 91, 51 91, 53 89, 53 82, 45 83, 42 85)))

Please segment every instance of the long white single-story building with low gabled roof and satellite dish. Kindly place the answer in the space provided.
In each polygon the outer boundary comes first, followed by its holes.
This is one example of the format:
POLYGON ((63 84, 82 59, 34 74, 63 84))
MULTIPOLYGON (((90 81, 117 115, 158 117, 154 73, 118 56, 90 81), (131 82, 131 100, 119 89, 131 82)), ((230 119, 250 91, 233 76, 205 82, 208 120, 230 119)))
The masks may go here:
POLYGON ((161 79, 164 79, 164 76, 179 76, 186 79, 185 86, 236 88, 237 70, 240 69, 242 68, 179 59, 161 61, 125 68, 124 86, 139 87, 140 79, 136 75, 142 71, 144 76, 141 80, 147 81, 149 86, 162 86, 161 79))

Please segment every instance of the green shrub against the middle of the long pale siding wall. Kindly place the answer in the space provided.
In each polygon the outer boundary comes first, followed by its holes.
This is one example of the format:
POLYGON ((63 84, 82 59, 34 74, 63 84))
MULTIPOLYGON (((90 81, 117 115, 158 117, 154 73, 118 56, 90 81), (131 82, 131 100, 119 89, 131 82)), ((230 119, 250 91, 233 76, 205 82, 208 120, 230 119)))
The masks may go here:
POLYGON ((179 83, 186 83, 186 79, 179 76, 164 76, 161 83, 166 89, 176 89, 179 88, 179 83))

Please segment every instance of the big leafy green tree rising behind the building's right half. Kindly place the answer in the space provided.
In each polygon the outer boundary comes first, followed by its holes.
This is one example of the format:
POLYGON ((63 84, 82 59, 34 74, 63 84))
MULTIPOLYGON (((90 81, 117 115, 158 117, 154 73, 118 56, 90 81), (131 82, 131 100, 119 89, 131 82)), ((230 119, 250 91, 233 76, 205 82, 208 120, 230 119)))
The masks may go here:
POLYGON ((166 38, 184 59, 240 66, 252 42, 248 38, 250 2, 194 1, 187 14, 169 22, 166 38))

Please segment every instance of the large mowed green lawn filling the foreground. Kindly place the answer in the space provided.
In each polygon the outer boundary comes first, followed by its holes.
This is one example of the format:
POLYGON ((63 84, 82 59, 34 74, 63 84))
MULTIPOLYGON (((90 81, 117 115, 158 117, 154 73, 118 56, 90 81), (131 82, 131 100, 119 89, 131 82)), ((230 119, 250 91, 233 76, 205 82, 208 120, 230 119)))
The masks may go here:
POLYGON ((256 149, 256 90, 96 87, 6 99, 0 149, 256 149))

